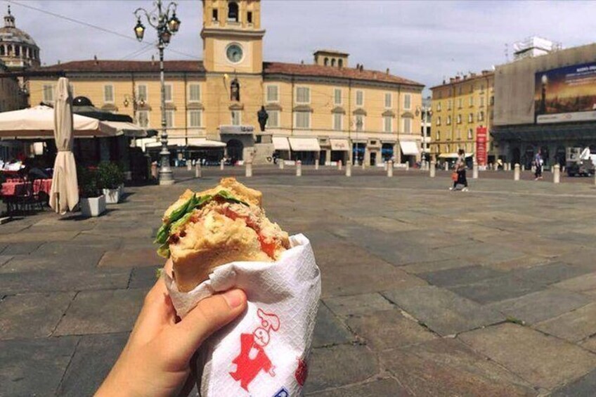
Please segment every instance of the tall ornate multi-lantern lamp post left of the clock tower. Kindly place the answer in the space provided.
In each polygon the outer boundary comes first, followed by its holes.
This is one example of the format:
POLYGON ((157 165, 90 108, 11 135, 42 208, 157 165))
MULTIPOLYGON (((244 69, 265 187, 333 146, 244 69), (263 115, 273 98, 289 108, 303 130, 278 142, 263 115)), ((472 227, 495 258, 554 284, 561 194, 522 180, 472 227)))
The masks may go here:
POLYGON ((176 6, 174 2, 167 6, 162 5, 162 0, 153 2, 155 8, 153 11, 146 11, 145 8, 137 8, 134 11, 136 16, 136 26, 134 34, 138 41, 143 41, 145 34, 145 25, 141 23, 141 16, 144 14, 149 25, 157 30, 157 48, 160 50, 160 83, 161 83, 161 103, 162 103, 162 150, 160 157, 162 164, 160 167, 160 185, 171 185, 174 183, 169 166, 169 150, 167 148, 167 128, 166 128, 166 90, 164 84, 164 48, 169 44, 171 36, 178 32, 180 20, 176 18, 176 6))

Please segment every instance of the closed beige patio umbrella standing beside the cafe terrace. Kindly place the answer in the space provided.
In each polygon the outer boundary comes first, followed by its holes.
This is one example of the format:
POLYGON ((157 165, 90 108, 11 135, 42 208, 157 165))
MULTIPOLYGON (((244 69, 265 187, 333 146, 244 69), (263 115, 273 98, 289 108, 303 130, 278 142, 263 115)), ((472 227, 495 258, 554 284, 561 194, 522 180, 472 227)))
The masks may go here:
POLYGON ((72 154, 72 93, 68 79, 58 79, 56 104, 54 105, 54 138, 56 138, 56 162, 50 206, 60 214, 72 211, 79 202, 79 183, 77 182, 77 164, 72 154))

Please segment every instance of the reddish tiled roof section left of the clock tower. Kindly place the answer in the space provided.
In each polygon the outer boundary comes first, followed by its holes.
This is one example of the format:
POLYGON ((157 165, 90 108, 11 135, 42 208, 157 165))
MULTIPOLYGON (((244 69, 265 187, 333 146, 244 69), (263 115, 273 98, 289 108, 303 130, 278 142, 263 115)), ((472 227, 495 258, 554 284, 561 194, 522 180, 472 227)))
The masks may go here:
MULTIPOLYGON (((202 60, 164 60, 166 72, 205 72, 202 60)), ((72 60, 37 67, 43 72, 159 72, 160 63, 153 60, 72 60)))

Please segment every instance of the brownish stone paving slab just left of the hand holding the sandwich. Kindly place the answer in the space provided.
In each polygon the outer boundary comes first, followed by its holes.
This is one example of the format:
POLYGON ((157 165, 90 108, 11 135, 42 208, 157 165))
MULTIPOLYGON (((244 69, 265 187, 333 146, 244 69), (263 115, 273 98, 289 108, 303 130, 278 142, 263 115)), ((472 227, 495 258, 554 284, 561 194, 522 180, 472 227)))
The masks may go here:
POLYGON ((79 292, 54 334, 129 332, 141 309, 145 294, 145 289, 79 292), (115 311, 114 308, 118 310, 115 311))

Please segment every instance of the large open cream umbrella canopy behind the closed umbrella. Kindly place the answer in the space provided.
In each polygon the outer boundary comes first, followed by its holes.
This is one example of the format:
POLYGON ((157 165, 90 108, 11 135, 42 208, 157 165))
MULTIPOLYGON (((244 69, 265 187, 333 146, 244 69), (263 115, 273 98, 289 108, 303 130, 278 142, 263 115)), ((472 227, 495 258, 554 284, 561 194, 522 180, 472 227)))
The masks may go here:
MULTIPOLYGON (((117 135, 117 129, 105 122, 81 115, 72 116, 72 129, 75 138, 117 135)), ((39 105, 0 113, 0 138, 50 138, 51 136, 54 136, 54 109, 48 106, 39 105)))

